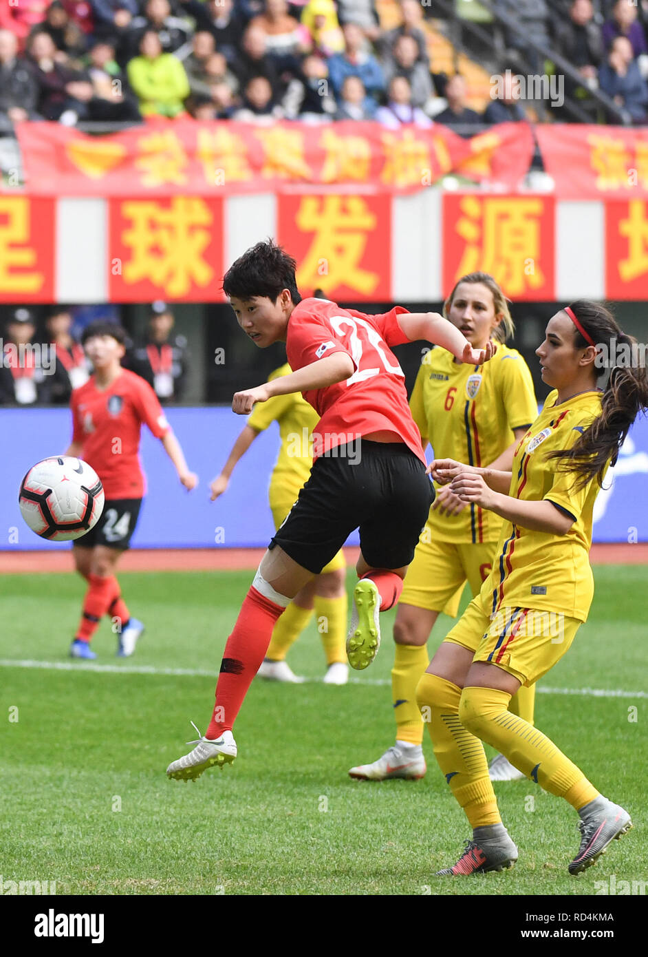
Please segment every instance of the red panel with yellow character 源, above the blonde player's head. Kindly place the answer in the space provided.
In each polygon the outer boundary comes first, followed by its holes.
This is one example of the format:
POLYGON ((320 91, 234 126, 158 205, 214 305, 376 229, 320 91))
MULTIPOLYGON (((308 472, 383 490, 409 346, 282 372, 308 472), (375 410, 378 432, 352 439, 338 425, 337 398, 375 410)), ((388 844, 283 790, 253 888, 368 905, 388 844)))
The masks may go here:
POLYGON ((443 289, 477 271, 512 300, 554 300, 551 196, 443 195, 443 289))

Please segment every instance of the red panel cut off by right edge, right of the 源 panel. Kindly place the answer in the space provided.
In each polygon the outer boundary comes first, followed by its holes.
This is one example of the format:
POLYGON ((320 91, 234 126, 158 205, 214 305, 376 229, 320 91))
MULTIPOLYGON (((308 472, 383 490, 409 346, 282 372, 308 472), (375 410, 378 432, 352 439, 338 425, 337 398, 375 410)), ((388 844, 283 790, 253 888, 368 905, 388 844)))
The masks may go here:
POLYGON ((605 206, 606 296, 645 300, 648 296, 648 202, 605 206))

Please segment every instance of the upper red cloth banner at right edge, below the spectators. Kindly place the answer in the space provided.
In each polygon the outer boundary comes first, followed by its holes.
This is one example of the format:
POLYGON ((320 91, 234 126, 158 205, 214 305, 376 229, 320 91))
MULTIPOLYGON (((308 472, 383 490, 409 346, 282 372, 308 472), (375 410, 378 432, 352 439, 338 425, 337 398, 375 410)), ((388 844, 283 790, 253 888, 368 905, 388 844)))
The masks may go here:
POLYGON ((648 199, 648 129, 538 125, 535 134, 561 199, 648 199))

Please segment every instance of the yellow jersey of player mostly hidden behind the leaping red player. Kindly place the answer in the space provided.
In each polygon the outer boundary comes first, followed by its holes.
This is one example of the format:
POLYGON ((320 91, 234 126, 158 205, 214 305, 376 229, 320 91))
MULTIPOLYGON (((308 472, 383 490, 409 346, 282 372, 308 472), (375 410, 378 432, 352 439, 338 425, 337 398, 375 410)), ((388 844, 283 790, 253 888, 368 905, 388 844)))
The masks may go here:
MULTIPOLYGON (((269 379, 290 375, 291 372, 292 368, 286 363, 275 368, 269 379)), ((248 415, 248 426, 256 432, 268 429, 272 422, 279 425, 281 448, 272 469, 270 487, 285 491, 288 498, 296 498, 297 492, 311 475, 312 434, 318 421, 319 415, 301 392, 273 395, 267 402, 257 402, 248 415)))

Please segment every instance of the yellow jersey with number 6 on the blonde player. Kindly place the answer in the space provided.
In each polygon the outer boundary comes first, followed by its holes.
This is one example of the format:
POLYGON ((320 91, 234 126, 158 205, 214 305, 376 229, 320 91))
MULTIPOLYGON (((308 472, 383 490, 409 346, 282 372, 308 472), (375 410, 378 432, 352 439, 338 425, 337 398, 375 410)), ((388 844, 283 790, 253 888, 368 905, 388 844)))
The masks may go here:
MULTIPOLYGON (((484 366, 456 363, 443 348, 425 353, 410 399, 423 448, 435 458, 468 465, 490 465, 514 441, 513 429, 527 428, 538 416, 529 366, 517 349, 499 344, 484 366)), ((459 515, 430 509, 435 538, 457 544, 497 542, 503 520, 471 504, 459 515)))

